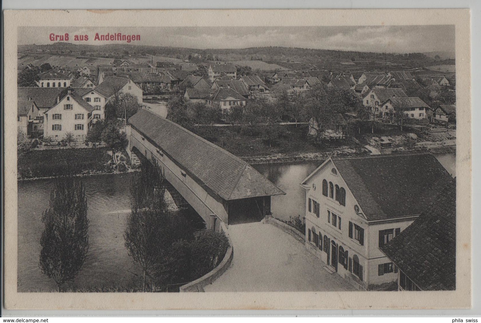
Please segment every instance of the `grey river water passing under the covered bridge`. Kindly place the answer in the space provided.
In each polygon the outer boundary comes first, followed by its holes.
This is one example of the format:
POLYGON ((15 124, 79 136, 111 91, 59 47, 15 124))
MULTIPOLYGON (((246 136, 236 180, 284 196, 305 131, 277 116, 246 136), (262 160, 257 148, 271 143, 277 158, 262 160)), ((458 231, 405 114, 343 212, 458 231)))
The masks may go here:
MULTIPOLYGON (((455 176, 455 154, 438 154, 438 160, 455 176)), ((304 208, 299 183, 322 162, 290 162, 253 165, 279 186, 285 196, 272 198, 274 216, 289 220, 304 208)), ((74 284, 78 288, 132 286, 139 267, 128 256, 124 230, 130 209, 129 183, 132 173, 86 176, 82 179, 88 199, 89 255, 74 284)), ((42 212, 49 206, 54 180, 18 182, 18 291, 55 291, 52 279, 38 267, 40 236, 44 229, 42 212)))

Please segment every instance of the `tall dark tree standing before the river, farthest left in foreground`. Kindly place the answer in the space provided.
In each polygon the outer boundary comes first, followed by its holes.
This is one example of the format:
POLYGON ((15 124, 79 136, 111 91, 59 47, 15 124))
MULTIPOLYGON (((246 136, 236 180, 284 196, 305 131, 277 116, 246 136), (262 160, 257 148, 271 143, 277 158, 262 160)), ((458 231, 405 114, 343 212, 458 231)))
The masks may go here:
POLYGON ((82 269, 89 251, 89 220, 83 183, 60 178, 51 191, 49 209, 43 212, 45 229, 40 238, 42 273, 61 286, 82 269))

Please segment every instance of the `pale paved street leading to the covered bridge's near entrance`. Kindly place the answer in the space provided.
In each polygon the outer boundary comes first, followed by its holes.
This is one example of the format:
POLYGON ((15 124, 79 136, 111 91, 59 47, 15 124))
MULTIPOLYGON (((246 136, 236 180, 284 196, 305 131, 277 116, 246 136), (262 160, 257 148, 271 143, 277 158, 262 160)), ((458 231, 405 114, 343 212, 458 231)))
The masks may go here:
POLYGON ((234 245, 230 268, 206 292, 355 290, 304 245, 271 224, 229 225, 234 245))

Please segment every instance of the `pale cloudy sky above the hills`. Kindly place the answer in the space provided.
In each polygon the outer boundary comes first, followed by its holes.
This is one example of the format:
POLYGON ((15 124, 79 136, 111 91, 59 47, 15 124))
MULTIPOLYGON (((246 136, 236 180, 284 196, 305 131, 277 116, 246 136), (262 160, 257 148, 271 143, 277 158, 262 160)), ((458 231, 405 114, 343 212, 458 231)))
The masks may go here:
POLYGON ((232 49, 263 46, 371 52, 455 51, 454 25, 299 26, 299 27, 20 27, 18 44, 51 44, 49 35, 69 34, 75 44, 105 45, 125 41, 95 41, 96 33, 140 35, 130 44, 232 49), (73 35, 88 35, 74 41, 73 35))

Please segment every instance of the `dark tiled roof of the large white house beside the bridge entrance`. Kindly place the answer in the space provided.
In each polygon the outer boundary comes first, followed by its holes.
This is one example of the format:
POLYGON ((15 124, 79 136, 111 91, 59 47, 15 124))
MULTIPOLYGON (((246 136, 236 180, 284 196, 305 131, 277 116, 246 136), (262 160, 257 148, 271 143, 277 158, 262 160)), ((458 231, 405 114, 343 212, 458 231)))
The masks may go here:
POLYGON ((368 221, 419 215, 452 177, 431 153, 333 157, 368 221))

